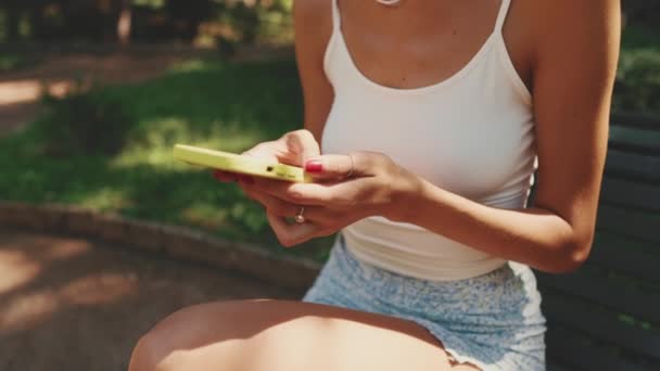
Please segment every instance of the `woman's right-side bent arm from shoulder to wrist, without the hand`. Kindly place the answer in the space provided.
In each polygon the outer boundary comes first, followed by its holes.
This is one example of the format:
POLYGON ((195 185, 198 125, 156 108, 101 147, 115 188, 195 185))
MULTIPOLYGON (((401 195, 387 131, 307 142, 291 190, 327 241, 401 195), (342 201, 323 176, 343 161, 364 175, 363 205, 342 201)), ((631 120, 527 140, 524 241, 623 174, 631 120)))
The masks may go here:
POLYGON ((423 182, 411 201, 415 213, 403 219, 490 254, 560 272, 586 259, 594 238, 620 2, 534 1, 533 8, 535 207, 487 207, 423 182))

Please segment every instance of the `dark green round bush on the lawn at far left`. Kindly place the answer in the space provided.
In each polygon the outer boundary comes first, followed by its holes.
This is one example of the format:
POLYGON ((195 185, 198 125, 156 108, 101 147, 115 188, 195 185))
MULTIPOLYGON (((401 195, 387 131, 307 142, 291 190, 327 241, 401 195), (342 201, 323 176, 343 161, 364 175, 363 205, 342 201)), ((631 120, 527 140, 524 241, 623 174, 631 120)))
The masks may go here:
POLYGON ((46 95, 47 117, 38 121, 49 155, 114 155, 134 118, 122 101, 101 90, 46 95))

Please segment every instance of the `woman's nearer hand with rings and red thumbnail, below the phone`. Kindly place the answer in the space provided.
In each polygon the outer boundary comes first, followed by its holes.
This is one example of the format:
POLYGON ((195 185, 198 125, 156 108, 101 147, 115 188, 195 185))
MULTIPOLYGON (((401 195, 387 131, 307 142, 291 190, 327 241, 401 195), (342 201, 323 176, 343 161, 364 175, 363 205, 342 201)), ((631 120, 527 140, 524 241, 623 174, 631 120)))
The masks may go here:
POLYGON ((308 159, 313 183, 240 178, 245 194, 266 208, 268 221, 284 246, 329 235, 368 216, 392 220, 404 216, 407 200, 421 181, 390 157, 373 152, 322 155, 308 159), (301 213, 302 210, 302 213, 301 213), (287 218, 302 214, 304 222, 287 218))

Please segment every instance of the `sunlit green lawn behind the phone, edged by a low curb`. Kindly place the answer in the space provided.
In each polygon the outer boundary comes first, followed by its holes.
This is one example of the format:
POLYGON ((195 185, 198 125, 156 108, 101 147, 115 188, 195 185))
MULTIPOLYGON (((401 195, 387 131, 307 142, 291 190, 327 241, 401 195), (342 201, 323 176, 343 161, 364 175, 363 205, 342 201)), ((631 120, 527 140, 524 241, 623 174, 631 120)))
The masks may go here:
MULTIPOLYGON (((253 64, 193 61, 150 82, 105 88, 134 121, 113 156, 45 154, 45 115, 0 139, 0 195, 28 203, 67 203, 140 219, 201 228, 277 251, 261 206, 206 169, 177 163, 175 143, 242 151, 299 128, 302 103, 293 61, 253 64)), ((81 117, 84 119, 84 117, 81 117)), ((104 128, 98 128, 103 136, 104 128)), ((309 244, 326 246, 328 240, 309 244)), ((322 259, 325 248, 296 248, 322 259)))

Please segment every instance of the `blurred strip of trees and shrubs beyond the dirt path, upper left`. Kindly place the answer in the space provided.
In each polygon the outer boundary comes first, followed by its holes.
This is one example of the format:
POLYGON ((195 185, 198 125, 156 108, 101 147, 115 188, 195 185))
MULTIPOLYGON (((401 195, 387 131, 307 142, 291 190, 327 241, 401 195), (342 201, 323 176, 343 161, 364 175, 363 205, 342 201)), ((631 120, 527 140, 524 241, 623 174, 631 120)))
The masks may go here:
POLYGON ((129 11, 137 42, 251 43, 290 37, 292 0, 3 0, 0 42, 116 42, 129 11))

